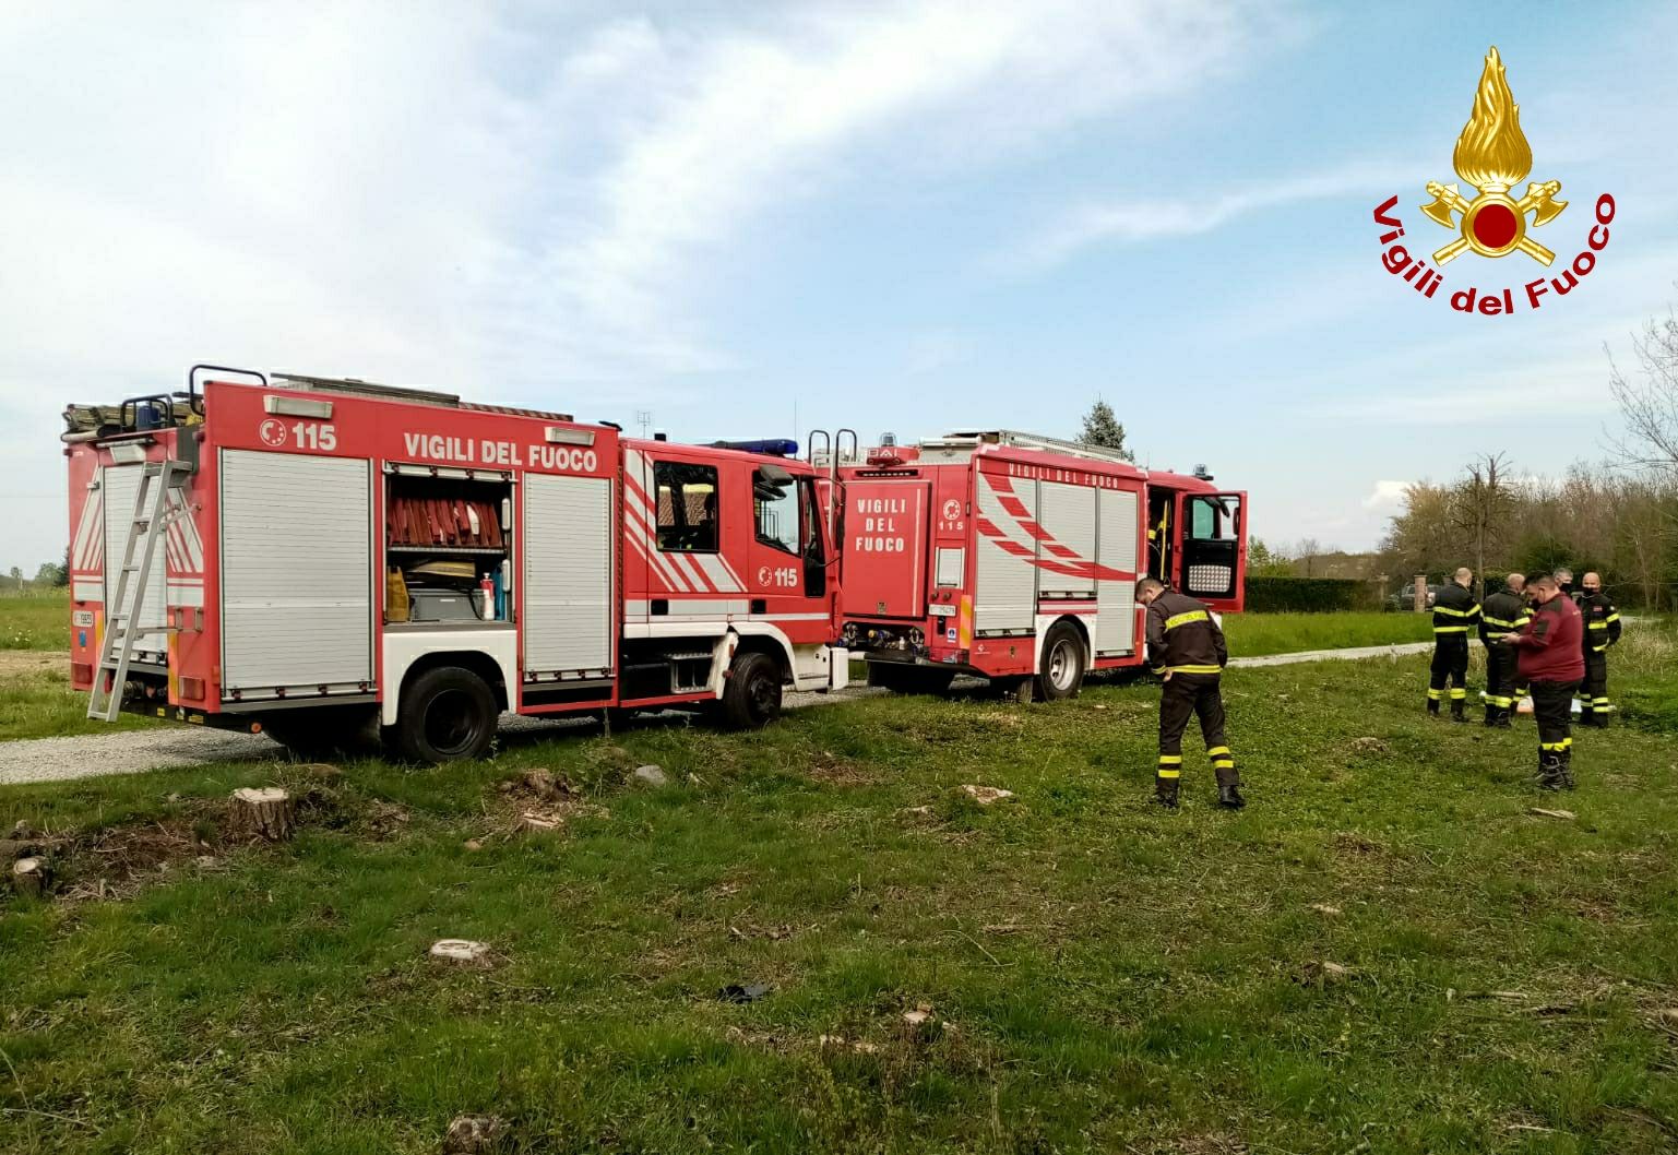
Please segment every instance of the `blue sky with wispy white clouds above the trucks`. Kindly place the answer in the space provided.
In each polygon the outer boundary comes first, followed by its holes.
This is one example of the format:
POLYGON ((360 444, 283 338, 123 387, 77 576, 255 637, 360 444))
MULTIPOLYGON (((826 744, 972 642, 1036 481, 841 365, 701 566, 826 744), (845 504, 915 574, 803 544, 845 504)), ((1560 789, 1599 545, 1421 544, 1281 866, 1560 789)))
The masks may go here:
POLYGON ((57 413, 193 361, 436 384, 675 438, 1071 433, 1099 395, 1272 542, 1415 478, 1604 455, 1678 289, 1670 5, 39 5, 0 20, 0 567, 62 551, 57 413), (1457 180, 1497 44, 1609 248, 1569 297, 1371 210, 1457 180))

